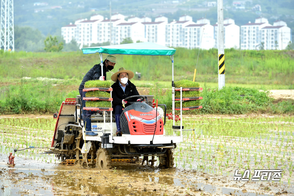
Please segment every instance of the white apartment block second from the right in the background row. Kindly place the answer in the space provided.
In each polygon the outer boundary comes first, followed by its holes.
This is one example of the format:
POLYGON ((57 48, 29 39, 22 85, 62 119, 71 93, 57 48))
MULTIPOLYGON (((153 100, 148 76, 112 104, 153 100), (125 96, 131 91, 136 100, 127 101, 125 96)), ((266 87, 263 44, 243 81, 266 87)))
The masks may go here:
POLYGON ((264 17, 259 17, 255 19, 254 23, 247 23, 246 25, 241 25, 240 30, 240 48, 241 50, 256 50, 261 42, 261 29, 271 26, 268 20, 264 17))

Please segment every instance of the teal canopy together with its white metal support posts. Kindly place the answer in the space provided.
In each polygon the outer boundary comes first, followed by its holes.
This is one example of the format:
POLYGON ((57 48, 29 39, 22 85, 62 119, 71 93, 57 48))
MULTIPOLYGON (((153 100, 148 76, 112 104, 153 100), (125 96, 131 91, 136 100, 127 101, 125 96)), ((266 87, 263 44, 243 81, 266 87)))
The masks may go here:
MULTIPOLYGON (((123 54, 123 55, 151 55, 151 56, 170 56, 171 65, 172 65, 172 116, 173 116, 173 125, 175 125, 175 84, 174 84, 174 54, 176 49, 168 48, 159 44, 151 42, 139 42, 131 44, 119 44, 119 45, 109 45, 109 46, 97 46, 89 48, 81 48, 83 54, 93 54, 98 52, 100 56, 100 65, 101 72, 103 76, 103 58, 102 54, 123 54)), ((181 88, 181 103, 180 103, 180 117, 182 117, 182 88, 181 88)), ((182 134, 182 120, 180 121, 180 136, 183 141, 182 134)), ((112 138, 112 134, 111 134, 112 138)))

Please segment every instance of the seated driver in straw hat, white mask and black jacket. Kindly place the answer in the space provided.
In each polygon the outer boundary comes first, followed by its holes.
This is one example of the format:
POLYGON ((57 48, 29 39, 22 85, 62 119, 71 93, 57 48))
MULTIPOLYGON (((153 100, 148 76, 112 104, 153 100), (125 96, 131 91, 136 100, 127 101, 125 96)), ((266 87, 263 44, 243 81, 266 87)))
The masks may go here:
MULTIPOLYGON (((115 122, 116 122, 116 135, 121 136, 122 131, 119 124, 120 114, 123 112, 123 105, 128 106, 129 104, 125 101, 125 98, 139 95, 136 86, 131 83, 130 79, 134 77, 134 73, 130 70, 126 70, 121 67, 116 73, 111 76, 111 80, 115 82, 111 85, 112 88, 112 107, 115 111, 115 122)), ((139 99, 140 100, 140 99, 139 99)), ((130 100, 136 101, 136 100, 130 100)), ((138 100, 137 100, 138 101, 138 100)))

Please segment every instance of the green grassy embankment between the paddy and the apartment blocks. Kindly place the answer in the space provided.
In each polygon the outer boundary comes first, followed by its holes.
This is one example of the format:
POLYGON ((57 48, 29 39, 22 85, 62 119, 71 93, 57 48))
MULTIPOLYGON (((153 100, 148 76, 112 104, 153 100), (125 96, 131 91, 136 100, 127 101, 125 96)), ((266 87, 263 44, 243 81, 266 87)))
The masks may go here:
MULTIPOLYGON (((193 79, 197 55, 197 49, 177 48, 174 56, 175 81, 193 79)), ((226 87, 219 91, 215 85, 218 71, 217 50, 200 51, 196 81, 203 87, 203 109, 194 111, 195 113, 293 113, 292 100, 273 103, 273 99, 266 97, 266 93, 259 92, 260 87, 262 90, 294 88, 293 51, 230 49, 225 51, 225 56, 226 87)), ((137 80, 136 77, 132 82, 137 87, 150 87, 150 94, 171 108, 169 57, 116 57, 118 64, 113 72, 107 73, 109 81, 112 73, 119 67, 134 73, 138 71, 141 79, 148 82, 137 80), (163 88, 169 89, 164 91, 163 88)), ((65 98, 79 94, 78 86, 83 76, 99 62, 98 55, 83 55, 82 52, 0 53, 0 113, 52 113, 59 110, 65 98)))

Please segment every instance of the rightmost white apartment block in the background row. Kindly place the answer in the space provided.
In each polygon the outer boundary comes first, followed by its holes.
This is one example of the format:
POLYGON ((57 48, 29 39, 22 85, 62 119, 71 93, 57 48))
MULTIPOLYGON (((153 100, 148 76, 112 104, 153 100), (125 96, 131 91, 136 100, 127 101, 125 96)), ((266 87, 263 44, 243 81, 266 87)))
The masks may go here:
POLYGON ((284 21, 275 21, 273 26, 261 29, 265 50, 284 50, 291 41, 291 29, 284 21))

